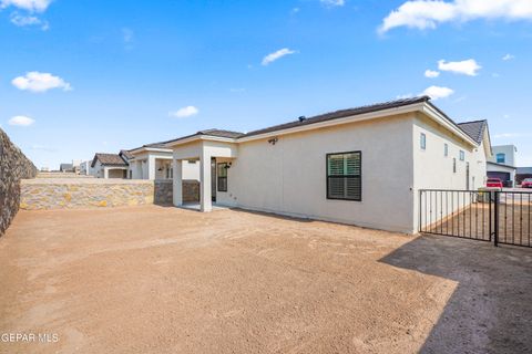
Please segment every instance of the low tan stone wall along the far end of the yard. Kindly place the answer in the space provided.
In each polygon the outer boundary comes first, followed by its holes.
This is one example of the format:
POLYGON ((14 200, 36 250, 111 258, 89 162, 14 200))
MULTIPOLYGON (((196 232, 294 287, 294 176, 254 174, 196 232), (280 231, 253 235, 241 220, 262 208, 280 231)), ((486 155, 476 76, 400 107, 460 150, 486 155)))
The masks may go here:
MULTIPOLYGON (((38 178, 21 183, 24 210, 172 205, 172 180, 38 178)), ((200 200, 200 183, 183 181, 187 201, 200 200)))

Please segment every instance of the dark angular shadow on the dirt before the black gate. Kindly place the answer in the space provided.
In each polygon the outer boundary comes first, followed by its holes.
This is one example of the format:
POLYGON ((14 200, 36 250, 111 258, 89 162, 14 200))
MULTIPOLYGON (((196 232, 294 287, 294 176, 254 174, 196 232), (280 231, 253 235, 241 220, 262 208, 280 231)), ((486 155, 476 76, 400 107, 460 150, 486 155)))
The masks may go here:
POLYGON ((532 353, 532 249, 422 236, 380 262, 459 283, 421 353, 532 353))

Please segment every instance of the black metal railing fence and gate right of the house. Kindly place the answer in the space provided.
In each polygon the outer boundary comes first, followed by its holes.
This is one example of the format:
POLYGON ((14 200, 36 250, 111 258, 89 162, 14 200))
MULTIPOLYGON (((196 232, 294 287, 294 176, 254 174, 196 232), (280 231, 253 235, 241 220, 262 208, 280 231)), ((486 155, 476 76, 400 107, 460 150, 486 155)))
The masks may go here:
POLYGON ((532 247, 532 194, 422 189, 419 231, 532 247))

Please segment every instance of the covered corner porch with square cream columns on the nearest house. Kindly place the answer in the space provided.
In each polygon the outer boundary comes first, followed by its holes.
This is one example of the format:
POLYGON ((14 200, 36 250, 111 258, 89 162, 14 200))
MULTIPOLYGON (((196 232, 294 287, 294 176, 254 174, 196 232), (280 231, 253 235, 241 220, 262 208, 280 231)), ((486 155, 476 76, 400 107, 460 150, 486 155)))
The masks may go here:
POLYGON ((201 211, 212 211, 213 208, 226 207, 228 169, 237 157, 234 143, 206 140, 176 145, 173 147, 173 181, 174 206, 190 207, 183 201, 184 167, 191 162, 200 164, 200 202, 201 211))

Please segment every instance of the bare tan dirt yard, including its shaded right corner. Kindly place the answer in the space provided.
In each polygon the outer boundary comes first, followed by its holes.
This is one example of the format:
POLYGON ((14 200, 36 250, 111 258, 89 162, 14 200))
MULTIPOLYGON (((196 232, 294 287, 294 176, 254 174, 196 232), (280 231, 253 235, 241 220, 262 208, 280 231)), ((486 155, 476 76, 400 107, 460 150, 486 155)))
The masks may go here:
POLYGON ((532 352, 530 249, 241 210, 21 211, 0 284, 0 353, 532 352))

